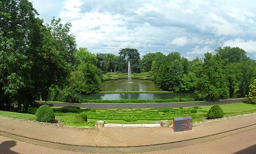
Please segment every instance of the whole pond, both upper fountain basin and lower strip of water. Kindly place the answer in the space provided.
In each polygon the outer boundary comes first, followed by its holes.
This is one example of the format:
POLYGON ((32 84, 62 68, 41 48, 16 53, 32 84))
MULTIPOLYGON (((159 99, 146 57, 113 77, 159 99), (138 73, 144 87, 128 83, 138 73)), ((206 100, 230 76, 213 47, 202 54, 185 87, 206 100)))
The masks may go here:
MULTIPOLYGON (((101 91, 160 91, 156 84, 150 80, 132 79, 128 83, 126 79, 105 81, 101 91)), ((96 93, 81 95, 86 100, 153 100, 153 99, 174 99, 174 98, 196 98, 198 93, 96 93)))

